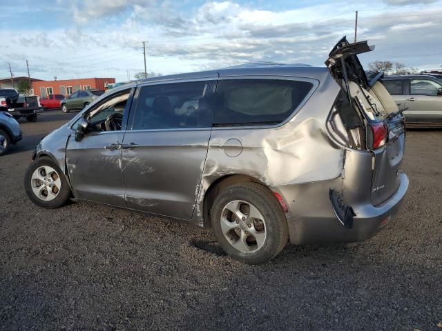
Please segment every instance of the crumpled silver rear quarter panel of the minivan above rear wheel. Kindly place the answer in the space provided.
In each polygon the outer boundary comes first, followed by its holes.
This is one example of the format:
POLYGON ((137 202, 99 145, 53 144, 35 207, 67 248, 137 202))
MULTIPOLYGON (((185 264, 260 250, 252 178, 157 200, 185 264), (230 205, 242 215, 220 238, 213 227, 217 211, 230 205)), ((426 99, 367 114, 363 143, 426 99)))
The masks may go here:
MULTIPOLYGON (((345 149, 332 143, 325 127, 340 87, 328 72, 324 77, 287 123, 273 127, 213 128, 195 212, 201 226, 204 194, 220 177, 244 174, 280 192, 340 177, 345 149), (224 151, 231 147, 229 139, 238 139, 242 144, 237 157, 229 157, 224 151)), ((328 187, 324 193, 328 199, 328 187)), ((292 214, 296 216, 291 210, 287 217, 292 214)))

